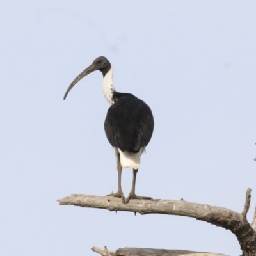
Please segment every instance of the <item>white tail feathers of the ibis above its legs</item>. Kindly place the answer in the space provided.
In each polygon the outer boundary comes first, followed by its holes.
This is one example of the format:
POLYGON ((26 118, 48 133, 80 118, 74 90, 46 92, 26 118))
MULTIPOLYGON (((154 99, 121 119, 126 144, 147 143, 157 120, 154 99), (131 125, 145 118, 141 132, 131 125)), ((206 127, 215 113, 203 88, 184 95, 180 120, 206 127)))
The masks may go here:
POLYGON ((120 154, 120 162, 122 168, 138 169, 140 167, 140 156, 145 151, 145 147, 142 147, 138 153, 122 152, 118 147, 114 147, 115 154, 120 154))

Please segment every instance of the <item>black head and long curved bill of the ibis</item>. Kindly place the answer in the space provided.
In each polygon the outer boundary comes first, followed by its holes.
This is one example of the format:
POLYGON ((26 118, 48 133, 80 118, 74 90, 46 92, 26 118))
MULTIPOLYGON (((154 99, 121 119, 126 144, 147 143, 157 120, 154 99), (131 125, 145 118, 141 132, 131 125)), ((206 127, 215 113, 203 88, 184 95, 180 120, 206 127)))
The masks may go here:
POLYGON ((67 88, 67 91, 64 95, 64 99, 66 99, 68 92, 74 87, 74 85, 80 81, 83 77, 87 76, 88 74, 92 73, 93 71, 99 70, 102 72, 103 77, 106 76, 106 74, 109 72, 109 69, 111 68, 111 64, 108 61, 108 59, 104 56, 100 56, 96 58, 93 63, 86 68, 79 76, 77 76, 74 81, 70 84, 70 86, 67 88))

